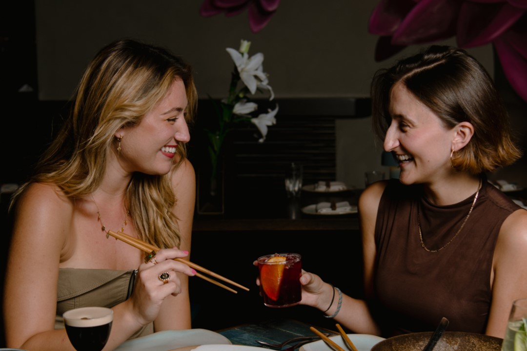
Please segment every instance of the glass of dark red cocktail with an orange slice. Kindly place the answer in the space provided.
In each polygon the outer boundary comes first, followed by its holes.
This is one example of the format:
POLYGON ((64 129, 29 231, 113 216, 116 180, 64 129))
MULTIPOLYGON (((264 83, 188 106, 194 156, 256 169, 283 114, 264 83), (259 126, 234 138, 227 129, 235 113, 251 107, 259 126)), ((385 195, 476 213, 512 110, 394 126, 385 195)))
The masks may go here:
POLYGON ((269 307, 297 305, 302 292, 302 261, 298 253, 274 253, 258 258, 260 291, 269 307))

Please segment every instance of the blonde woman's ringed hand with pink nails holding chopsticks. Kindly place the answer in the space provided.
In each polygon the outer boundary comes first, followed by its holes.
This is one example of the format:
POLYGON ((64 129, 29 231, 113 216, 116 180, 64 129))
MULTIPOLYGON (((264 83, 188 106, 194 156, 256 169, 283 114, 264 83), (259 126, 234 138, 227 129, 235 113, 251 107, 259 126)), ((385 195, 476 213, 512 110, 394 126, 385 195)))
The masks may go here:
POLYGON ((141 325, 146 325, 157 318, 165 298, 181 293, 181 284, 176 272, 190 277, 196 275, 194 269, 173 260, 186 256, 188 256, 188 251, 177 248, 162 249, 157 251, 149 261, 139 266, 134 291, 129 300, 133 313, 141 325), (163 278, 168 279, 163 281, 163 278))

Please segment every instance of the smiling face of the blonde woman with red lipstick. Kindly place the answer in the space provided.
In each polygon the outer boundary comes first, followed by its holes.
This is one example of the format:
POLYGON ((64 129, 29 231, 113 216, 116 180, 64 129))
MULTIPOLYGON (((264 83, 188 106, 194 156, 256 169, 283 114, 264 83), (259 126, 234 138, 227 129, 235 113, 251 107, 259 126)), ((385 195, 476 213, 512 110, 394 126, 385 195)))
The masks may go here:
POLYGON ((190 140, 185 120, 187 94, 182 80, 172 83, 167 95, 138 125, 123 128, 118 161, 126 172, 167 174, 175 150, 190 140))

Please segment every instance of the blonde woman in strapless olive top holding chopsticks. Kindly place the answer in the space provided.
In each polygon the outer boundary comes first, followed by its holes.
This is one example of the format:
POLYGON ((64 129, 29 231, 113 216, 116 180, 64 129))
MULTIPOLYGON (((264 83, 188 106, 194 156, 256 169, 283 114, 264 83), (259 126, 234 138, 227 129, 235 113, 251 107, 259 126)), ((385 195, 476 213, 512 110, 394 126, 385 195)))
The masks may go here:
POLYGON ((105 349, 191 328, 195 271, 172 258, 190 250, 195 178, 185 143, 196 103, 190 66, 163 48, 120 40, 97 53, 12 203, 7 346, 72 350, 61 316, 83 306, 113 309, 105 349), (108 230, 163 249, 145 259, 108 230))

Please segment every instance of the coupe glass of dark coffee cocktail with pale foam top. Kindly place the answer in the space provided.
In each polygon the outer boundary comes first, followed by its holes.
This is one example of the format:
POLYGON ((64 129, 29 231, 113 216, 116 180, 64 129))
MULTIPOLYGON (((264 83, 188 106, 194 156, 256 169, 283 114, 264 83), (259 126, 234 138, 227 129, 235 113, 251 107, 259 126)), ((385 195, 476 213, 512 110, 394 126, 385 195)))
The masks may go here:
POLYGON ((67 337, 77 351, 101 351, 112 329, 113 310, 106 307, 81 307, 66 311, 62 317, 67 337))

